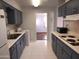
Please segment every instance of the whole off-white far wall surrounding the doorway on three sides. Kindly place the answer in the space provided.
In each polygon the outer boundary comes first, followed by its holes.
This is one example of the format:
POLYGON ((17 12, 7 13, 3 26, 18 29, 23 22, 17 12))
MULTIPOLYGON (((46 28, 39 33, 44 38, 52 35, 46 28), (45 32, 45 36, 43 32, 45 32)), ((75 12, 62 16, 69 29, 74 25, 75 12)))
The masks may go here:
MULTIPOLYGON (((50 29, 53 31, 54 26, 53 26, 53 20, 54 20, 54 11, 53 9, 50 8, 25 8, 23 10, 23 24, 22 28, 24 29, 29 29, 31 33, 31 41, 36 41, 36 18, 35 14, 36 13, 48 13, 48 36, 50 36, 50 29)), ((48 40, 51 38, 48 37, 48 40)))

